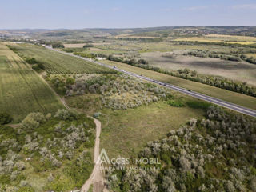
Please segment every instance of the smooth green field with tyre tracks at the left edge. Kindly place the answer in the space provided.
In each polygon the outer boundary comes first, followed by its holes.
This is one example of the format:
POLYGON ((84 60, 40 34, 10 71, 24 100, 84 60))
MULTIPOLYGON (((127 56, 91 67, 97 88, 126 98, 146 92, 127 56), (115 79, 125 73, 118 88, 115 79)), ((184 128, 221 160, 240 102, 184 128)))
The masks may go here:
POLYGON ((30 66, 0 44, 0 110, 19 122, 30 112, 52 113, 62 107, 54 92, 30 66))

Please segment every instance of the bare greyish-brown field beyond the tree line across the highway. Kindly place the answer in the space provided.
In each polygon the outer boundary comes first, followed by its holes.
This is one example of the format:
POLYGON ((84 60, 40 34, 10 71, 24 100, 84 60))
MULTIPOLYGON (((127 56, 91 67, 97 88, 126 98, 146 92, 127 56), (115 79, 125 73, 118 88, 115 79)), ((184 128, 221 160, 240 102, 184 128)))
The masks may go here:
POLYGON ((141 55, 151 66, 158 66, 165 70, 188 68, 198 71, 199 74, 222 76, 256 86, 256 65, 247 62, 232 62, 219 58, 197 58, 180 54, 167 58, 163 57, 165 53, 161 52, 147 52, 141 55))

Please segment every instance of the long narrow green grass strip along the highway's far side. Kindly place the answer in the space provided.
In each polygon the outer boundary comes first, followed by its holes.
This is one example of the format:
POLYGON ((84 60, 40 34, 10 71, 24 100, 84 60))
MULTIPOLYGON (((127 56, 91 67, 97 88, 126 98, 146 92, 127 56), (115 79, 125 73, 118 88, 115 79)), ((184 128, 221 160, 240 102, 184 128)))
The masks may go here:
POLYGON ((223 90, 214 86, 208 86, 199 82, 191 82, 186 79, 176 78, 167 74, 160 74, 152 70, 144 70, 135 66, 130 66, 121 62, 110 62, 103 61, 108 65, 117 66, 120 69, 134 72, 136 74, 142 74, 149 78, 154 78, 155 80, 161 82, 167 82, 174 86, 181 86, 188 90, 194 90, 198 93, 206 94, 214 98, 220 98, 226 102, 232 102, 240 106, 246 106, 251 109, 256 109, 256 98, 250 97, 244 94, 234 93, 229 90, 223 90))

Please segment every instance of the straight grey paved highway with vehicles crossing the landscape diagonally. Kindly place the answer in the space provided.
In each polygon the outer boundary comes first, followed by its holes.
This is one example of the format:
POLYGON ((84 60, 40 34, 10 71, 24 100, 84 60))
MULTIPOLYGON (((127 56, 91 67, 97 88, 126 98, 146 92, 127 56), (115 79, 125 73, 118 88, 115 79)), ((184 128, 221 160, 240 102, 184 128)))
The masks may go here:
MULTIPOLYGON (((45 46, 47 49, 50 49, 50 50, 54 50, 53 48, 51 48, 50 46, 45 46)), ((101 63, 101 62, 95 62, 94 60, 90 59, 90 58, 82 58, 81 56, 78 56, 78 55, 74 55, 74 54, 70 54, 70 53, 66 53, 64 51, 61 51, 61 50, 54 50, 54 51, 57 51, 61 54, 67 54, 67 55, 70 55, 70 56, 73 56, 73 57, 76 57, 76 58, 81 58, 83 60, 86 60, 88 62, 94 62, 95 64, 98 64, 100 66, 105 66, 107 68, 110 68, 110 69, 113 69, 113 70, 118 70, 124 74, 129 74, 130 76, 134 76, 136 78, 141 78, 143 80, 146 80, 148 82, 153 82, 153 83, 156 83, 160 86, 165 86, 166 88, 169 88, 169 89, 172 89, 172 90, 177 90, 178 92, 181 92, 182 94, 187 94, 187 95, 190 95, 194 98, 199 98, 199 99, 202 99, 206 102, 211 102, 211 103, 214 103, 215 105, 218 105, 218 106, 222 106, 222 107, 225 107, 227 109, 230 109, 230 110, 234 110, 234 111, 237 111, 241 114, 247 114, 247 115, 250 115, 254 118, 256 118, 256 110, 251 110, 251 109, 248 109, 244 106, 238 106, 234 103, 231 103, 231 102, 226 102, 226 101, 223 101, 221 99, 218 99, 218 98, 213 98, 213 97, 210 97, 206 94, 199 94, 197 92, 194 92, 194 91, 191 91, 191 90, 186 90, 182 87, 179 87, 179 86, 173 86, 171 84, 168 84, 166 82, 159 82, 159 81, 156 81, 152 78, 147 78, 147 77, 144 77, 142 75, 138 75, 138 74, 134 74, 134 73, 131 73, 129 71, 126 71, 126 70, 121 70, 121 69, 118 69, 118 67, 115 67, 115 66, 110 66, 110 65, 106 65, 104 63, 101 63)))

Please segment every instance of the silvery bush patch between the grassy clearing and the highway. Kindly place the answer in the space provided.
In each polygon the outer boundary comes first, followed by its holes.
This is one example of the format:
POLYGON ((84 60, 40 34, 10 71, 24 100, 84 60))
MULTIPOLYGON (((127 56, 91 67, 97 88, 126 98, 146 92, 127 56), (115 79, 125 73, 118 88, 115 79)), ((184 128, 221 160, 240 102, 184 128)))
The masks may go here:
MULTIPOLYGON (((50 78, 54 85, 59 84, 58 77, 51 76, 50 78)), ((170 90, 154 84, 139 82, 122 74, 77 75, 74 84, 65 84, 65 90, 66 97, 84 94, 94 95, 94 98, 98 98, 98 103, 101 106, 114 110, 148 105, 151 102, 170 97, 170 90)), ((87 102, 84 104, 82 102, 86 101, 82 100, 74 107, 84 108, 88 106, 87 102)))

